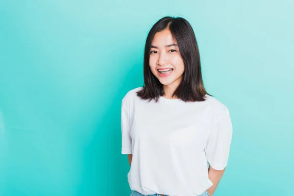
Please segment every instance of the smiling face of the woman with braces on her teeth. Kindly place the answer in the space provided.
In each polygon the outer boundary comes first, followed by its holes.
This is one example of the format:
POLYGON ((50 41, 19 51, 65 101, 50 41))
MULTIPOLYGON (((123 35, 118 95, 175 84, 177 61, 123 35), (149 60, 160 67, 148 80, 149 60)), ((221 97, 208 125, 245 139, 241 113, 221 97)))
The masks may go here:
POLYGON ((185 65, 170 30, 155 33, 150 49, 149 66, 164 86, 176 88, 180 84, 185 65))

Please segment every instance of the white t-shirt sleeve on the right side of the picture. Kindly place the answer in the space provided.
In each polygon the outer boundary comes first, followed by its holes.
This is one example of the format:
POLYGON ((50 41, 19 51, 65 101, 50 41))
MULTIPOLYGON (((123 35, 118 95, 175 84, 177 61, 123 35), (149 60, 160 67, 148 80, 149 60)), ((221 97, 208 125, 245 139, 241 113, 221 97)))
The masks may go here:
POLYGON ((232 140, 232 123, 227 108, 216 121, 211 124, 206 146, 206 158, 215 170, 223 170, 227 166, 232 140))

